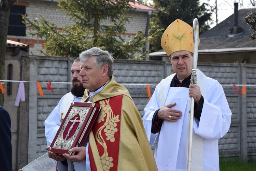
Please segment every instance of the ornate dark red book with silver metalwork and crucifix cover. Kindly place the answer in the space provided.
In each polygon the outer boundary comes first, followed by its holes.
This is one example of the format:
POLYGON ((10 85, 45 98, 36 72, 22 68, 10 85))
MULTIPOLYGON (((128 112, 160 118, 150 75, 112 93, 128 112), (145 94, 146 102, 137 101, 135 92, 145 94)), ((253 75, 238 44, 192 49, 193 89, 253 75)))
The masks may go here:
POLYGON ((48 152, 74 155, 69 149, 83 145, 100 109, 95 103, 72 102, 48 152))

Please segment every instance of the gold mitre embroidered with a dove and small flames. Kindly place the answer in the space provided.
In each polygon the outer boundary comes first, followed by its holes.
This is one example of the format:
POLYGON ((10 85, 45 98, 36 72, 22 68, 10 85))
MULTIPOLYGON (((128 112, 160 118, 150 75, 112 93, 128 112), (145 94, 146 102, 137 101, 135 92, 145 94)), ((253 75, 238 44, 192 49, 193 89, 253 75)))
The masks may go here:
MULTIPOLYGON (((198 44, 199 42, 198 38, 198 44)), ((161 46, 168 56, 177 51, 194 53, 193 28, 182 20, 176 19, 163 33, 161 46)))

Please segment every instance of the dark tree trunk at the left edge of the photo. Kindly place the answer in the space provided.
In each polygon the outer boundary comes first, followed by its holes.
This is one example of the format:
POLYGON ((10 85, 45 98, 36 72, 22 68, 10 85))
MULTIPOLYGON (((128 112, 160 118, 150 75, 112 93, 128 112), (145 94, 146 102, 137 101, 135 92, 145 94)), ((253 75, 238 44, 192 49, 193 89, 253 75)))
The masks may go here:
MULTIPOLYGON (((17 0, 0 0, 0 80, 4 80, 6 39, 8 32, 10 8, 15 1, 17 0)), ((3 101, 4 95, 0 93, 1 106, 3 106, 3 101)))

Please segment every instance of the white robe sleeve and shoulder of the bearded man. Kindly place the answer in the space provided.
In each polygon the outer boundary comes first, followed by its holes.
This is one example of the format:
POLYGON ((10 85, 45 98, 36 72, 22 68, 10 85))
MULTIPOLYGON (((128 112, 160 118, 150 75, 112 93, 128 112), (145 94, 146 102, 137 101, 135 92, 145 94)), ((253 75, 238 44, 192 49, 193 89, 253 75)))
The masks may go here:
MULTIPOLYGON (((47 117, 44 122, 45 127, 45 138, 47 141, 47 146, 51 145, 60 125, 61 113, 63 113, 62 119, 68 112, 71 102, 80 102, 82 97, 76 97, 71 94, 71 92, 64 95, 58 105, 54 108, 51 114, 47 117)), ((57 162, 57 161, 55 161, 57 162)), ((56 166, 55 166, 56 167, 56 166)), ((62 165, 61 162, 58 162, 58 171, 66 171, 67 167, 62 165)))

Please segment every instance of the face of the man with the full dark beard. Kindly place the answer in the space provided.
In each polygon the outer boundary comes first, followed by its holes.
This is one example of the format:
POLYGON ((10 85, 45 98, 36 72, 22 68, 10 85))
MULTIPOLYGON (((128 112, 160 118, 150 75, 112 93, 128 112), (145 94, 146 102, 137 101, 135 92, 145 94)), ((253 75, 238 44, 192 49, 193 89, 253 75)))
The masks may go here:
POLYGON ((81 61, 74 62, 71 67, 72 74, 72 89, 71 93, 76 97, 82 97, 84 95, 85 88, 83 87, 82 77, 79 75, 81 69, 81 61))

